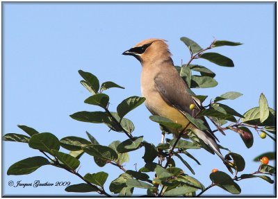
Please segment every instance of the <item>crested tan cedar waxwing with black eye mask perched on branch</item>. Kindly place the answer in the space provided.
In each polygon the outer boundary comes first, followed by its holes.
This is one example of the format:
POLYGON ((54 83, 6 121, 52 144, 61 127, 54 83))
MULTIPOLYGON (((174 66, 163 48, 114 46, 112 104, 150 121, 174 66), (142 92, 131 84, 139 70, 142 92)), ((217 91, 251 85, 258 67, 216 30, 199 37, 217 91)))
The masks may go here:
MULTIPOLYGON (((147 109, 154 115, 163 116, 176 123, 181 124, 183 128, 188 125, 188 119, 183 114, 187 112, 193 116, 193 110, 190 110, 190 104, 194 104, 192 96, 186 92, 188 85, 183 81, 171 58, 171 53, 167 49, 168 45, 165 40, 148 39, 133 46, 128 51, 124 51, 123 55, 132 55, 142 64, 141 73, 141 92, 142 96, 146 98, 145 105, 147 109)), ((196 106, 195 114, 198 112, 198 105, 196 106)), ((199 139, 202 139, 205 144, 210 146, 215 153, 227 163, 224 159, 218 144, 216 144, 215 135, 204 119, 204 116, 198 117, 204 121, 208 128, 206 132, 199 130, 192 123, 188 126, 199 139)), ((177 130, 167 129, 173 133, 178 134, 177 130)), ((218 139, 217 139, 218 140, 218 139)))

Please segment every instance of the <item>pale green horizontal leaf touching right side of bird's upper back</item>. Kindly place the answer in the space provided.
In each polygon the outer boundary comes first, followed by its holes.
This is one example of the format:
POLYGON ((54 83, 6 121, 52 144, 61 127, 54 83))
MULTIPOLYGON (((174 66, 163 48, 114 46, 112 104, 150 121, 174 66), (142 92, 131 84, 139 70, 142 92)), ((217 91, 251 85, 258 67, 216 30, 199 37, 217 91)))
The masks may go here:
POLYGON ((218 82, 209 76, 191 76, 190 88, 216 87, 218 82))

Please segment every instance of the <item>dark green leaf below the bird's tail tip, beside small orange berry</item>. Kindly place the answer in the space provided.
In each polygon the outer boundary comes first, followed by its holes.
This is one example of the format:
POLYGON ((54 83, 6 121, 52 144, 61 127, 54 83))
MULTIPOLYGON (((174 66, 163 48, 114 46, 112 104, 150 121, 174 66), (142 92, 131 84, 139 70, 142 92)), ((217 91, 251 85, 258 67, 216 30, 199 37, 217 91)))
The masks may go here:
POLYGON ((227 174, 222 171, 216 171, 215 173, 211 173, 209 175, 211 181, 217 184, 218 187, 221 187, 225 191, 233 194, 239 194, 241 192, 240 187, 233 179, 227 174))

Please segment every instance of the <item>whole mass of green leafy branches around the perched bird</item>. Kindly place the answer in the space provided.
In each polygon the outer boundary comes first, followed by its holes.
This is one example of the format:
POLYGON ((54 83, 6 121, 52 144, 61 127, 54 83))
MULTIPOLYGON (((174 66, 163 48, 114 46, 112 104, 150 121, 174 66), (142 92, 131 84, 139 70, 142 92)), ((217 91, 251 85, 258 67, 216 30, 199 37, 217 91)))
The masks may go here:
MULTIPOLYGON (((247 148, 251 148, 254 142, 254 137, 250 128, 254 128, 257 132, 262 130, 267 131, 268 137, 276 141, 276 112, 268 107, 268 101, 263 94, 259 98, 259 106, 253 107, 244 114, 240 114, 232 107, 222 103, 226 100, 234 100, 242 94, 239 92, 226 92, 220 96, 213 98, 208 105, 203 105, 208 96, 199 96, 192 92, 192 88, 208 88, 215 87, 218 82, 215 80, 216 74, 208 69, 208 67, 199 64, 192 64, 194 60, 199 58, 208 60, 209 62, 221 67, 234 67, 234 62, 224 55, 219 53, 207 52, 219 46, 238 46, 239 42, 229 42, 225 40, 215 40, 207 48, 202 48, 187 37, 181 37, 181 41, 188 46, 190 51, 190 60, 187 64, 177 66, 181 78, 188 84, 190 89, 186 92, 190 94, 197 105, 197 109, 192 110, 193 113, 184 113, 189 124, 196 126, 199 130, 209 131, 207 123, 204 123, 204 117, 210 119, 216 127, 211 133, 230 130, 236 132, 243 139, 247 148), (198 73, 197 75, 195 73, 198 73), (228 126, 223 127, 230 122, 228 126)), ((268 175, 275 175, 276 168, 270 165, 261 164, 258 171, 253 173, 243 172, 247 163, 243 156, 231 152, 231 150, 219 146, 219 148, 229 150, 225 155, 227 168, 229 171, 235 171, 235 175, 231 177, 223 171, 211 173, 208 178, 212 184, 204 187, 202 182, 194 178, 192 175, 198 176, 194 171, 194 167, 190 166, 188 159, 201 165, 201 161, 197 159, 188 150, 199 150, 204 148, 209 153, 214 153, 213 150, 195 133, 184 128, 187 138, 182 139, 183 131, 180 131, 178 137, 172 139, 166 138, 161 144, 155 145, 146 141, 143 136, 133 137, 132 133, 135 129, 133 122, 125 116, 141 105, 145 98, 139 96, 131 96, 124 99, 117 105, 116 111, 109 110, 111 101, 108 94, 104 94, 107 89, 124 87, 117 85, 111 81, 99 83, 99 79, 90 72, 79 70, 81 85, 90 93, 90 96, 85 99, 84 103, 101 107, 102 111, 81 111, 71 114, 70 117, 76 121, 88 123, 104 123, 109 130, 114 132, 123 132, 127 139, 124 141, 113 141, 108 146, 99 144, 97 139, 89 132, 86 132, 87 139, 83 137, 63 137, 58 139, 50 132, 38 132, 28 126, 18 126, 27 135, 8 133, 3 136, 5 141, 15 141, 28 144, 30 148, 39 150, 43 156, 28 157, 11 165, 8 168, 8 175, 28 175, 33 173, 42 166, 56 166, 57 168, 65 169, 70 173, 79 177, 82 183, 72 184, 65 188, 68 192, 97 192, 104 196, 111 196, 104 189, 107 183, 108 173, 101 171, 98 173, 79 173, 81 166, 80 157, 83 155, 92 156, 95 164, 99 167, 104 167, 111 164, 122 171, 122 173, 112 180, 108 186, 109 191, 118 194, 120 197, 133 196, 134 189, 145 189, 145 196, 201 196, 206 190, 211 187, 218 186, 232 194, 239 194, 241 189, 236 182, 248 178, 261 178, 269 183, 274 181, 268 175), (62 152, 61 148, 67 150, 62 152), (127 169, 124 163, 129 162, 129 155, 133 151, 143 148, 144 154, 142 161, 144 166, 137 169, 127 169), (183 168, 179 168, 176 162, 179 161, 183 168), (190 175, 189 175, 190 173, 190 175), (154 178, 152 178, 154 175, 154 178)), ((173 128, 180 130, 182 124, 171 121, 163 116, 153 115, 149 119, 158 123, 162 128, 162 135, 165 136, 165 129, 173 128)), ((266 156, 269 159, 275 159, 275 153, 263 153, 254 161, 259 161, 261 157, 266 156)), ((203 174, 202 174, 203 175, 203 174)))

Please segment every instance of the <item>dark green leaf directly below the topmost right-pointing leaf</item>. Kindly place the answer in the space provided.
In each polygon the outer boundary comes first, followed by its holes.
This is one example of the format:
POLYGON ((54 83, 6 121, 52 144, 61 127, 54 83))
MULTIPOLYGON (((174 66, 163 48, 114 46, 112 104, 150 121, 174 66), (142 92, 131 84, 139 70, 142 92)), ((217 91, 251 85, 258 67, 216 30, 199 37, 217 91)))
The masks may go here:
POLYGON ((199 58, 203 58, 222 67, 234 67, 234 62, 230 58, 219 53, 203 53, 199 58))

